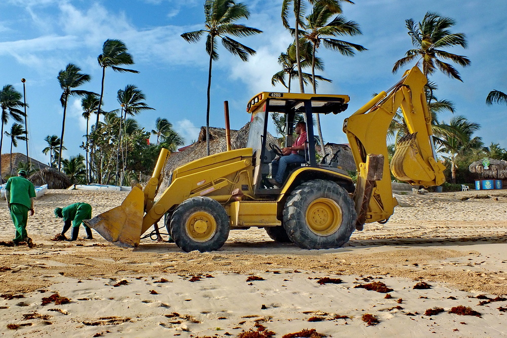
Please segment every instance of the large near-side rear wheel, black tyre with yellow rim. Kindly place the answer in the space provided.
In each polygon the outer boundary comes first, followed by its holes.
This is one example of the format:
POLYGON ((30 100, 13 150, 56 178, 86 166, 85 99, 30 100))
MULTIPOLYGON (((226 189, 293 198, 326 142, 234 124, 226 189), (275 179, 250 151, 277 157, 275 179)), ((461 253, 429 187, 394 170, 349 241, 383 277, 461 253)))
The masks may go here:
POLYGON ((315 179, 289 195, 283 227, 300 248, 339 248, 352 235, 356 218, 354 202, 345 189, 335 182, 315 179))

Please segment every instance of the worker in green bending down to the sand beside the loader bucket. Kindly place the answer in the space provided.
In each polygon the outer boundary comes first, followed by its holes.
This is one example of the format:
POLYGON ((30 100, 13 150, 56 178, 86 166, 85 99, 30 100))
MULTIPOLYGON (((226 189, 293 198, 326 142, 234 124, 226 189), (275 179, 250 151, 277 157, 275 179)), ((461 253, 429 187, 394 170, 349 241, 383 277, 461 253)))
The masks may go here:
MULTIPOLYGON (((61 236, 65 237, 65 233, 70 228, 72 224, 72 232, 70 238, 67 239, 68 242, 75 241, 78 239, 79 235, 79 226, 83 223, 83 219, 91 219, 92 218, 92 206, 88 203, 74 203, 66 206, 65 208, 56 208, 55 216, 63 218, 65 222, 63 225, 63 230, 61 236)), ((86 230, 85 239, 93 239, 92 230, 88 228, 83 223, 86 230)))

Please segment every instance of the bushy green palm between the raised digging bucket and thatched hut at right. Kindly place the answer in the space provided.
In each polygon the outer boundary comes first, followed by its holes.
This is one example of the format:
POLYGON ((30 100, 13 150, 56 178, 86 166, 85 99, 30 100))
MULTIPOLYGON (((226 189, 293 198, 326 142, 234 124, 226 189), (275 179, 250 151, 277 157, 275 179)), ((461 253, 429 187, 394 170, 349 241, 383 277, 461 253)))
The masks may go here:
POLYGON ((459 155, 463 155, 469 149, 477 149, 483 147, 481 137, 472 137, 474 132, 481 128, 481 125, 468 121, 464 116, 455 116, 448 125, 441 124, 443 130, 448 130, 448 134, 444 134, 438 140, 441 146, 440 152, 449 154, 445 157, 451 163, 451 181, 456 183, 456 159, 459 155))

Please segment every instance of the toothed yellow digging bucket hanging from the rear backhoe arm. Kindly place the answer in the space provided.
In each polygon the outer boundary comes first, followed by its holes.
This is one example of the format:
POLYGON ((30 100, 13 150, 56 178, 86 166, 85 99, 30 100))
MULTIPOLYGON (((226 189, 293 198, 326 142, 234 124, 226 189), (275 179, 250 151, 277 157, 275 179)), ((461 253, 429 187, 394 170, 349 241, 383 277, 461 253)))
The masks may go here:
POLYGON ((396 152, 391 160, 393 175, 411 184, 440 185, 445 181, 443 170, 445 167, 437 163, 432 154, 423 159, 418 146, 417 133, 402 137, 396 144, 396 152), (432 166, 428 166, 426 161, 432 166))

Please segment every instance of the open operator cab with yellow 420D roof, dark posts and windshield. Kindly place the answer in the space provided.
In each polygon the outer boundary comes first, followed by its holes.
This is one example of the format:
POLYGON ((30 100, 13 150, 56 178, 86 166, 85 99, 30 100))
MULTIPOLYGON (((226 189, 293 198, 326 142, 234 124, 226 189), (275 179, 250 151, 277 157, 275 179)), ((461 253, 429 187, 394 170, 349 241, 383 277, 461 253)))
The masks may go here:
MULTIPOLYGON (((246 147, 253 149, 253 165, 255 166, 253 171, 253 186, 255 187, 256 195, 278 194, 281 190, 275 189, 267 180, 270 174, 271 161, 281 153, 276 142, 267 140, 268 122, 272 123, 270 122, 271 113, 283 114, 285 117, 285 147, 293 145, 294 122, 297 115, 303 114, 305 121, 309 121, 309 123, 306 125, 306 151, 304 154, 303 152, 300 154, 305 157, 306 162, 301 165, 333 169, 333 164, 335 163, 327 157, 324 158, 324 161, 327 160, 329 163, 317 164, 316 162, 315 137, 312 123, 313 114, 330 114, 331 112, 338 114, 347 109, 348 101, 348 95, 269 92, 262 92, 251 98, 246 107, 246 111, 251 114, 250 132, 246 147)), ((334 156, 334 160, 336 160, 336 156, 334 156)), ((289 168, 288 171, 291 169, 294 170, 295 168, 289 168)), ((285 175, 287 176, 287 172, 285 175)))

